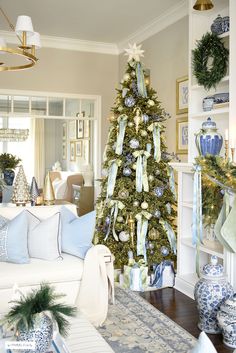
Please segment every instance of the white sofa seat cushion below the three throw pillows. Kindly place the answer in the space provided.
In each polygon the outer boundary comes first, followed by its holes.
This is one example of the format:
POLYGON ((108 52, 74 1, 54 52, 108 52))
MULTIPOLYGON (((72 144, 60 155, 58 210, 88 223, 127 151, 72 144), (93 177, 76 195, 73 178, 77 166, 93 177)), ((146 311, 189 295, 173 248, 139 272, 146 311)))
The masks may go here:
POLYGON ((78 257, 64 254, 58 261, 31 259, 30 264, 16 266, 12 263, 0 263, 0 289, 38 285, 41 282, 57 283, 80 281, 84 261, 78 257))

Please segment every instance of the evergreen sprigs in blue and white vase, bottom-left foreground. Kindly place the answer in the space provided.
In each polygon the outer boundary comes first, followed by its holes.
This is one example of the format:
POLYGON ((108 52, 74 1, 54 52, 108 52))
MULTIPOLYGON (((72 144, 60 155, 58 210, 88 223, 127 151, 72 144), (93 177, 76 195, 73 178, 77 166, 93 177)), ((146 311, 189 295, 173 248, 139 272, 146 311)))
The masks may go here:
POLYGON ((3 323, 14 327, 20 341, 35 341, 35 353, 45 353, 51 346, 53 323, 59 333, 67 335, 69 322, 65 316, 75 316, 77 309, 57 302, 63 294, 55 293, 54 287, 42 283, 19 300, 3 318, 3 323))

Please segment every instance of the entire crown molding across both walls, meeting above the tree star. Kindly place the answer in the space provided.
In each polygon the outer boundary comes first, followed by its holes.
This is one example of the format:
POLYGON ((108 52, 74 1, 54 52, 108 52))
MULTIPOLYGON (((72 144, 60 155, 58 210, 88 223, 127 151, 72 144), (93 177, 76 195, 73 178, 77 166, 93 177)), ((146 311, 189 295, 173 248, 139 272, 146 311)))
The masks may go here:
MULTIPOLYGON (((187 15, 188 1, 181 0, 180 3, 172 6, 155 20, 130 34, 119 43, 104 43, 82 39, 41 36, 42 47, 118 55, 124 51, 124 48, 126 48, 129 43, 140 43, 187 15)), ((19 44, 19 41, 13 32, 0 31, 0 36, 4 37, 7 43, 19 44)))

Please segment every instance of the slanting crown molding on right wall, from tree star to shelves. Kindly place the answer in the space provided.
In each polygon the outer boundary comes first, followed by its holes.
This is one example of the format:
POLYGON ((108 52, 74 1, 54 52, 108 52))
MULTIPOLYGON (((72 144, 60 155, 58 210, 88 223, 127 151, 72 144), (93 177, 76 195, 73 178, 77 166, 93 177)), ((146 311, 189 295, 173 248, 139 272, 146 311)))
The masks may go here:
POLYGON ((119 54, 123 53, 129 43, 140 43, 187 15, 188 0, 182 0, 179 4, 172 6, 168 11, 157 17, 154 21, 141 27, 128 38, 125 38, 123 41, 117 43, 119 54))

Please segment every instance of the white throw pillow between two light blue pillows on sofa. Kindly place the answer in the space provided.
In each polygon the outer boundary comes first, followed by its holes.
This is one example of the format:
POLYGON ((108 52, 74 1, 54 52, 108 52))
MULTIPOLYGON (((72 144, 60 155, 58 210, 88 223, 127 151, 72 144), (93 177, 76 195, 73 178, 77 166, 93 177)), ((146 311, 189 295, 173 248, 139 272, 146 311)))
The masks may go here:
POLYGON ((28 213, 29 256, 43 260, 56 260, 61 256, 60 213, 40 220, 28 213))

